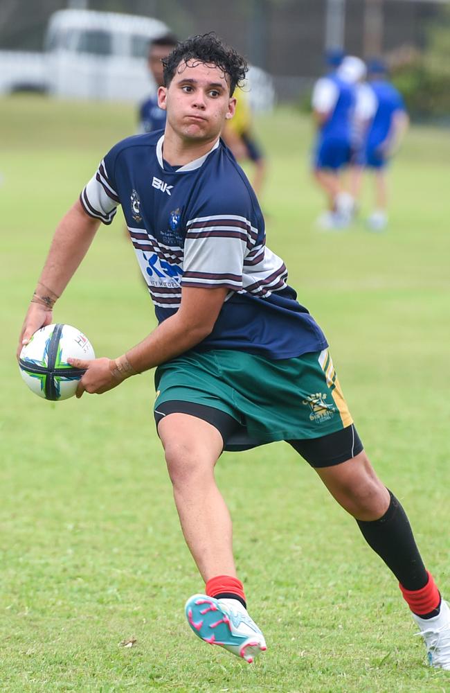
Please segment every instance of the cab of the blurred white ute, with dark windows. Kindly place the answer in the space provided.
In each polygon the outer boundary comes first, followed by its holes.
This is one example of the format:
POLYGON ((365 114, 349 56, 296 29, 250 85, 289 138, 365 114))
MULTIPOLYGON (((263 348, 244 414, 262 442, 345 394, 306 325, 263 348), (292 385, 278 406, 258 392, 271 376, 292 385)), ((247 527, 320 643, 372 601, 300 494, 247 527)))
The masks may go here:
POLYGON ((150 42, 169 28, 159 19, 91 10, 60 10, 48 22, 47 86, 63 98, 136 101, 154 89, 150 42))

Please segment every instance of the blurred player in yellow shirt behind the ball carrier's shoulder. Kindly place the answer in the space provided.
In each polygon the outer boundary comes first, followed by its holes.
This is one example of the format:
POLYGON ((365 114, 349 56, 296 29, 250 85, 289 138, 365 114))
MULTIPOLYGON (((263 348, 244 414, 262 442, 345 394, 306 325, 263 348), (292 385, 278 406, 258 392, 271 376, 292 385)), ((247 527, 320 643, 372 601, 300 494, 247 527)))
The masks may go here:
POLYGON ((251 183, 253 190, 259 197, 266 175, 266 160, 255 139, 253 118, 246 92, 242 89, 236 89, 235 97, 237 100, 235 114, 231 120, 226 121, 224 130, 222 130, 222 139, 238 161, 249 160, 253 162, 255 170, 251 183))

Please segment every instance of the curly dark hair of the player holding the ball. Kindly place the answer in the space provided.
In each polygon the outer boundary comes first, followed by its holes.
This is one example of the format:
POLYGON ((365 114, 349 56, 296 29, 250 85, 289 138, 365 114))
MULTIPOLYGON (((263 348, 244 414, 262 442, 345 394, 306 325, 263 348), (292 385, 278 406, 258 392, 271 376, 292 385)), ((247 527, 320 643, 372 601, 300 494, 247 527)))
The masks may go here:
POLYGON ((164 68, 164 85, 168 87, 177 67, 181 62, 189 60, 215 65, 224 71, 224 76, 230 87, 230 96, 236 87, 242 86, 246 72, 249 69, 246 61, 234 49, 226 46, 213 31, 208 34, 192 36, 181 41, 167 58, 161 61, 164 68))

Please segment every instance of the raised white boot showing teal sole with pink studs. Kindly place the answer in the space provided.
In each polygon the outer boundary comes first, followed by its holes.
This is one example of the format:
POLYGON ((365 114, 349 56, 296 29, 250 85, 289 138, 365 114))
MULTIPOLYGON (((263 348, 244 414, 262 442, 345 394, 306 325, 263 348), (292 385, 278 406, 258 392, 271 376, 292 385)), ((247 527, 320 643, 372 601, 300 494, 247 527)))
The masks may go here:
POLYGON ((185 613, 201 640, 224 647, 249 664, 267 649, 264 635, 237 599, 194 595, 186 602, 185 613))

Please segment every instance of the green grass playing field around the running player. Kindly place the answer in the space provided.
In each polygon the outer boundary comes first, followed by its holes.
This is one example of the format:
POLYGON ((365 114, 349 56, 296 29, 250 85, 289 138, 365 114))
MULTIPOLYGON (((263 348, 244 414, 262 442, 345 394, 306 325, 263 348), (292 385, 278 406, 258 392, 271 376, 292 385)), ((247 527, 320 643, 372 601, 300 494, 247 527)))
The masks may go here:
MULTIPOLYGON (((408 134, 386 233, 361 224, 330 234, 314 227, 309 123, 286 109, 258 129, 271 166, 268 245, 324 326, 366 450, 449 598, 449 134, 408 134)), ((203 585, 154 430, 152 375, 60 404, 22 383, 17 336, 55 224, 133 131, 125 106, 1 100, 0 691, 450 691, 450 672, 424 665, 395 579, 281 443, 226 453, 217 468, 269 649, 251 667, 209 649, 183 617, 203 585), (129 638, 133 647, 120 645, 129 638)), ((98 356, 123 353, 154 326, 119 217, 54 314, 98 356)))

